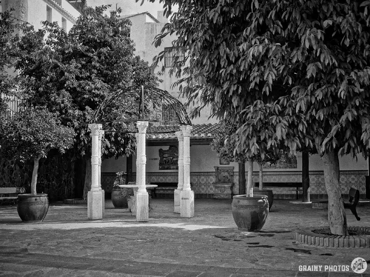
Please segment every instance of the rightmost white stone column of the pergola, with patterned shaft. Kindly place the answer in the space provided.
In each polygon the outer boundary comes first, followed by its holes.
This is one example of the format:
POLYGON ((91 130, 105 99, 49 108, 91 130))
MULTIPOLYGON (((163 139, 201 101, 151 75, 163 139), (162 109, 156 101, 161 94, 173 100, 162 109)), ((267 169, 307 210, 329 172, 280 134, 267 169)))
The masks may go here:
POLYGON ((183 134, 183 169, 184 184, 180 191, 180 216, 194 216, 194 191, 190 188, 190 132, 192 127, 181 126, 183 134))

